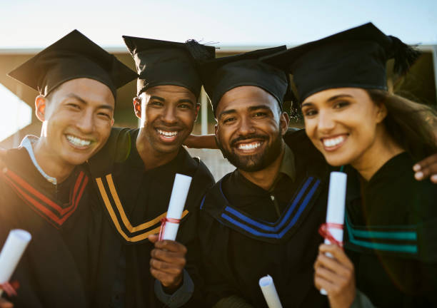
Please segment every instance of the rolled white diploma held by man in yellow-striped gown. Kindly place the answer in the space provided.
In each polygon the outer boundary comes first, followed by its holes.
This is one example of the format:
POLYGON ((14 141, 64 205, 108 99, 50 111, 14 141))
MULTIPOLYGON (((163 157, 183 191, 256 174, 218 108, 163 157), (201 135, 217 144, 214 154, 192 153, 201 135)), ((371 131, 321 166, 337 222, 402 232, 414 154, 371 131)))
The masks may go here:
MULTIPOLYGON (((167 211, 167 218, 181 219, 186 196, 189 193, 191 185, 191 177, 188 175, 181 175, 176 173, 174 178, 173 190, 171 190, 169 210, 167 211)), ((163 240, 176 240, 179 223, 166 222, 164 229, 163 240)))

